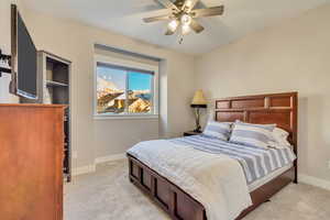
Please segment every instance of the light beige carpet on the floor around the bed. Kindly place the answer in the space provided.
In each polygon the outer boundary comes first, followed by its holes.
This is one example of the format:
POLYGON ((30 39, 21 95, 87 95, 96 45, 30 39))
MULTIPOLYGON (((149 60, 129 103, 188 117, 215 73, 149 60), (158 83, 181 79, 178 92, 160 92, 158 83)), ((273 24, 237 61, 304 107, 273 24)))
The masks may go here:
MULTIPOLYGON (((125 161, 107 163, 65 186, 64 220, 169 220, 128 179, 125 161)), ((330 191, 289 185, 244 220, 329 220, 330 191)))

